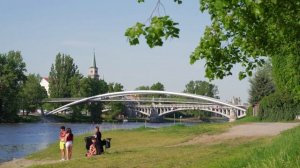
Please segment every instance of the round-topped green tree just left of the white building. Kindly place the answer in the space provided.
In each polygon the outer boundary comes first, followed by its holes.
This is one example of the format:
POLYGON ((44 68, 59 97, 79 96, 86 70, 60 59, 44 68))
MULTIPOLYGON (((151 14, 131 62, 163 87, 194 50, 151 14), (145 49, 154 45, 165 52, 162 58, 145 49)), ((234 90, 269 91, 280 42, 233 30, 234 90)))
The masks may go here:
POLYGON ((23 110, 28 115, 30 112, 41 108, 42 100, 47 98, 47 91, 40 85, 41 77, 39 75, 29 74, 27 80, 22 86, 20 92, 21 104, 23 110))

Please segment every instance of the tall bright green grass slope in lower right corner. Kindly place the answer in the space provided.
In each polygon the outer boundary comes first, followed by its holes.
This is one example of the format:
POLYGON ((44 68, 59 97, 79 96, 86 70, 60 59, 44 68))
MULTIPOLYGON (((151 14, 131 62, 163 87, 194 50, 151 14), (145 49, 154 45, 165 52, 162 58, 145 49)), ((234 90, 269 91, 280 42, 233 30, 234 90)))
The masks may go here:
POLYGON ((257 145, 242 159, 232 158, 223 167, 300 167, 300 127, 287 130, 269 143, 257 145))

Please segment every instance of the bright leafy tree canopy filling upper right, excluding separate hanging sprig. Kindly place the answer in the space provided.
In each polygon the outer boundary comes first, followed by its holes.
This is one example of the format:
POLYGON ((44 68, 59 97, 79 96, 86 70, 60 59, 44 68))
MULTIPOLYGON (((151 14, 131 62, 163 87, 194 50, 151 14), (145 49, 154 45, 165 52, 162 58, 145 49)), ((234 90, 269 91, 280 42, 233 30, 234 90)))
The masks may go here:
MULTIPOLYGON (((191 55, 191 63, 206 60, 206 76, 223 78, 234 64, 245 71, 240 78, 264 63, 262 57, 277 55, 288 46, 299 44, 299 1, 202 0, 212 24, 205 30, 191 55)), ((287 53, 282 53, 283 59, 287 53)))

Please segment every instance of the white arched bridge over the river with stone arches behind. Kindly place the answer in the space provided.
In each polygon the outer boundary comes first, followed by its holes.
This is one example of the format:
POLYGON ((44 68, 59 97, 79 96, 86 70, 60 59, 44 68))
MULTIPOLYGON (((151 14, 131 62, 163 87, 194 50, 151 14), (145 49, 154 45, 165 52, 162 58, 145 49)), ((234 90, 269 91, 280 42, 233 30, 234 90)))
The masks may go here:
POLYGON ((149 117, 153 115, 163 116, 176 111, 184 111, 184 110, 209 111, 212 113, 222 115, 228 118, 229 121, 235 121, 237 118, 242 118, 246 116, 246 109, 240 106, 222 102, 219 99, 201 96, 201 95, 187 94, 187 93, 153 91, 153 90, 114 92, 114 93, 106 93, 106 94, 91 96, 87 98, 50 99, 44 102, 52 102, 52 103, 70 102, 70 103, 61 106, 57 109, 54 109, 46 113, 46 115, 64 111, 76 104, 80 104, 84 102, 93 102, 93 101, 133 102, 132 105, 128 106, 130 109, 142 113, 149 117), (159 95, 165 98, 157 98, 157 99, 141 98, 142 96, 149 96, 149 95, 150 96, 159 95), (154 102, 158 104, 155 104, 154 102), (148 104, 141 104, 141 103, 148 103, 148 104))

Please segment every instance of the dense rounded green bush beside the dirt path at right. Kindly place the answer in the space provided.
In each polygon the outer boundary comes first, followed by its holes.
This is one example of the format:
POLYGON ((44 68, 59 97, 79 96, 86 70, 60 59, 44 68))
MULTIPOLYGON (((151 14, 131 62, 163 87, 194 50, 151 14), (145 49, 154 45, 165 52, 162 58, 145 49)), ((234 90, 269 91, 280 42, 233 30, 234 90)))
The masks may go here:
POLYGON ((299 101, 290 94, 275 92, 260 101, 258 117, 270 121, 294 120, 299 112, 299 101))

